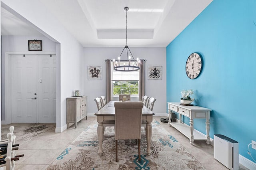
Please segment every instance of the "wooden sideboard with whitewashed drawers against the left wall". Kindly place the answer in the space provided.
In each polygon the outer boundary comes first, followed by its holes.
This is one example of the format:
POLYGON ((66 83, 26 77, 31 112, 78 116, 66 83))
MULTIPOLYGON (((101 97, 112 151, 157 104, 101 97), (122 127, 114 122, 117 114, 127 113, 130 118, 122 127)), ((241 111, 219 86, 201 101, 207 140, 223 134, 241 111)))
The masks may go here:
POLYGON ((67 128, 70 123, 77 123, 84 117, 87 119, 87 96, 67 98, 67 128))

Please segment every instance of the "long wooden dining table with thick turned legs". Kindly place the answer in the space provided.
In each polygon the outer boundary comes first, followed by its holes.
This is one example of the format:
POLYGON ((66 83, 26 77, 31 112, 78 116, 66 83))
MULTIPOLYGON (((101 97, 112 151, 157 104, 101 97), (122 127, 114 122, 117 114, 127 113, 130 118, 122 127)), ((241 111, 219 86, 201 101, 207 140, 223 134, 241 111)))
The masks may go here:
MULTIPOLYGON (((98 142, 99 142, 99 150, 98 153, 102 155, 102 142, 103 142, 103 135, 104 135, 104 123, 105 122, 112 122, 115 121, 115 107, 114 103, 118 101, 110 101, 108 102, 102 109, 96 112, 94 115, 97 116, 97 135, 98 135, 98 142)), ((125 101, 125 102, 132 102, 132 101, 125 101)), ((152 125, 151 122, 153 121, 153 115, 155 115, 150 109, 146 106, 142 108, 142 123, 146 123, 146 140, 147 140, 147 154, 150 155, 150 143, 152 137, 152 125)))

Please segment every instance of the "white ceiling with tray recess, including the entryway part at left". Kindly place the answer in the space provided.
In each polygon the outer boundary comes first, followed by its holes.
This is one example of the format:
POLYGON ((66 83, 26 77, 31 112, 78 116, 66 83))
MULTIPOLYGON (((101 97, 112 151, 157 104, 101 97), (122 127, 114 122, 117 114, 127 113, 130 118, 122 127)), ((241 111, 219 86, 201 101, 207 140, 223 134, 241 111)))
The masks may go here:
MULTIPOLYGON (((40 0, 84 47, 166 47, 212 0, 40 0)), ((1 35, 42 35, 1 10, 1 35), (18 28, 18 29, 17 29, 18 28)))

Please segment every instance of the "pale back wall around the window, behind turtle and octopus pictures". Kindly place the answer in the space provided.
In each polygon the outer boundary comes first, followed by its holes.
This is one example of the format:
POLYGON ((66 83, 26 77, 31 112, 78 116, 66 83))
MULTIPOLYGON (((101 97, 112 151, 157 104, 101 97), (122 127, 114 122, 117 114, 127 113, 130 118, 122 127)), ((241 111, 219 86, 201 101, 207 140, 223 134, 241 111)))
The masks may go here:
MULTIPOLYGON (((88 114, 97 111, 94 99, 106 96, 106 62, 105 59, 117 59, 124 47, 84 47, 84 94, 88 96, 88 114), (87 67, 102 66, 102 80, 88 80, 87 67)), ((146 59, 145 95, 156 98, 154 113, 166 115, 166 47, 129 47, 134 58, 146 59), (148 80, 147 69, 150 66, 162 66, 162 80, 148 80), (164 113, 164 114, 163 114, 164 113)))

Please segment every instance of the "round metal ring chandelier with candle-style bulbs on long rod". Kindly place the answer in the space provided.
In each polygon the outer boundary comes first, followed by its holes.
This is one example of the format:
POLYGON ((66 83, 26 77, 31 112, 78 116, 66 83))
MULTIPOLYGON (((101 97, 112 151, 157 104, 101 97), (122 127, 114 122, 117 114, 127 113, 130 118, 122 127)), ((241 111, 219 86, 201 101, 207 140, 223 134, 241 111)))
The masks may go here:
POLYGON ((121 54, 118 57, 118 61, 113 59, 113 65, 114 65, 114 70, 116 71, 138 71, 140 69, 139 65, 139 59, 137 60, 134 59, 128 45, 127 45, 127 11, 129 10, 128 7, 124 7, 125 13, 126 13, 126 45, 124 46, 124 49, 122 50, 121 54), (124 52, 125 51, 125 52, 124 52), (126 53, 126 60, 120 60, 120 57, 122 53, 126 53), (128 55, 130 53, 130 55, 128 55), (132 56, 132 60, 131 60, 132 56), (123 65, 120 65, 120 61, 122 61, 123 65))

